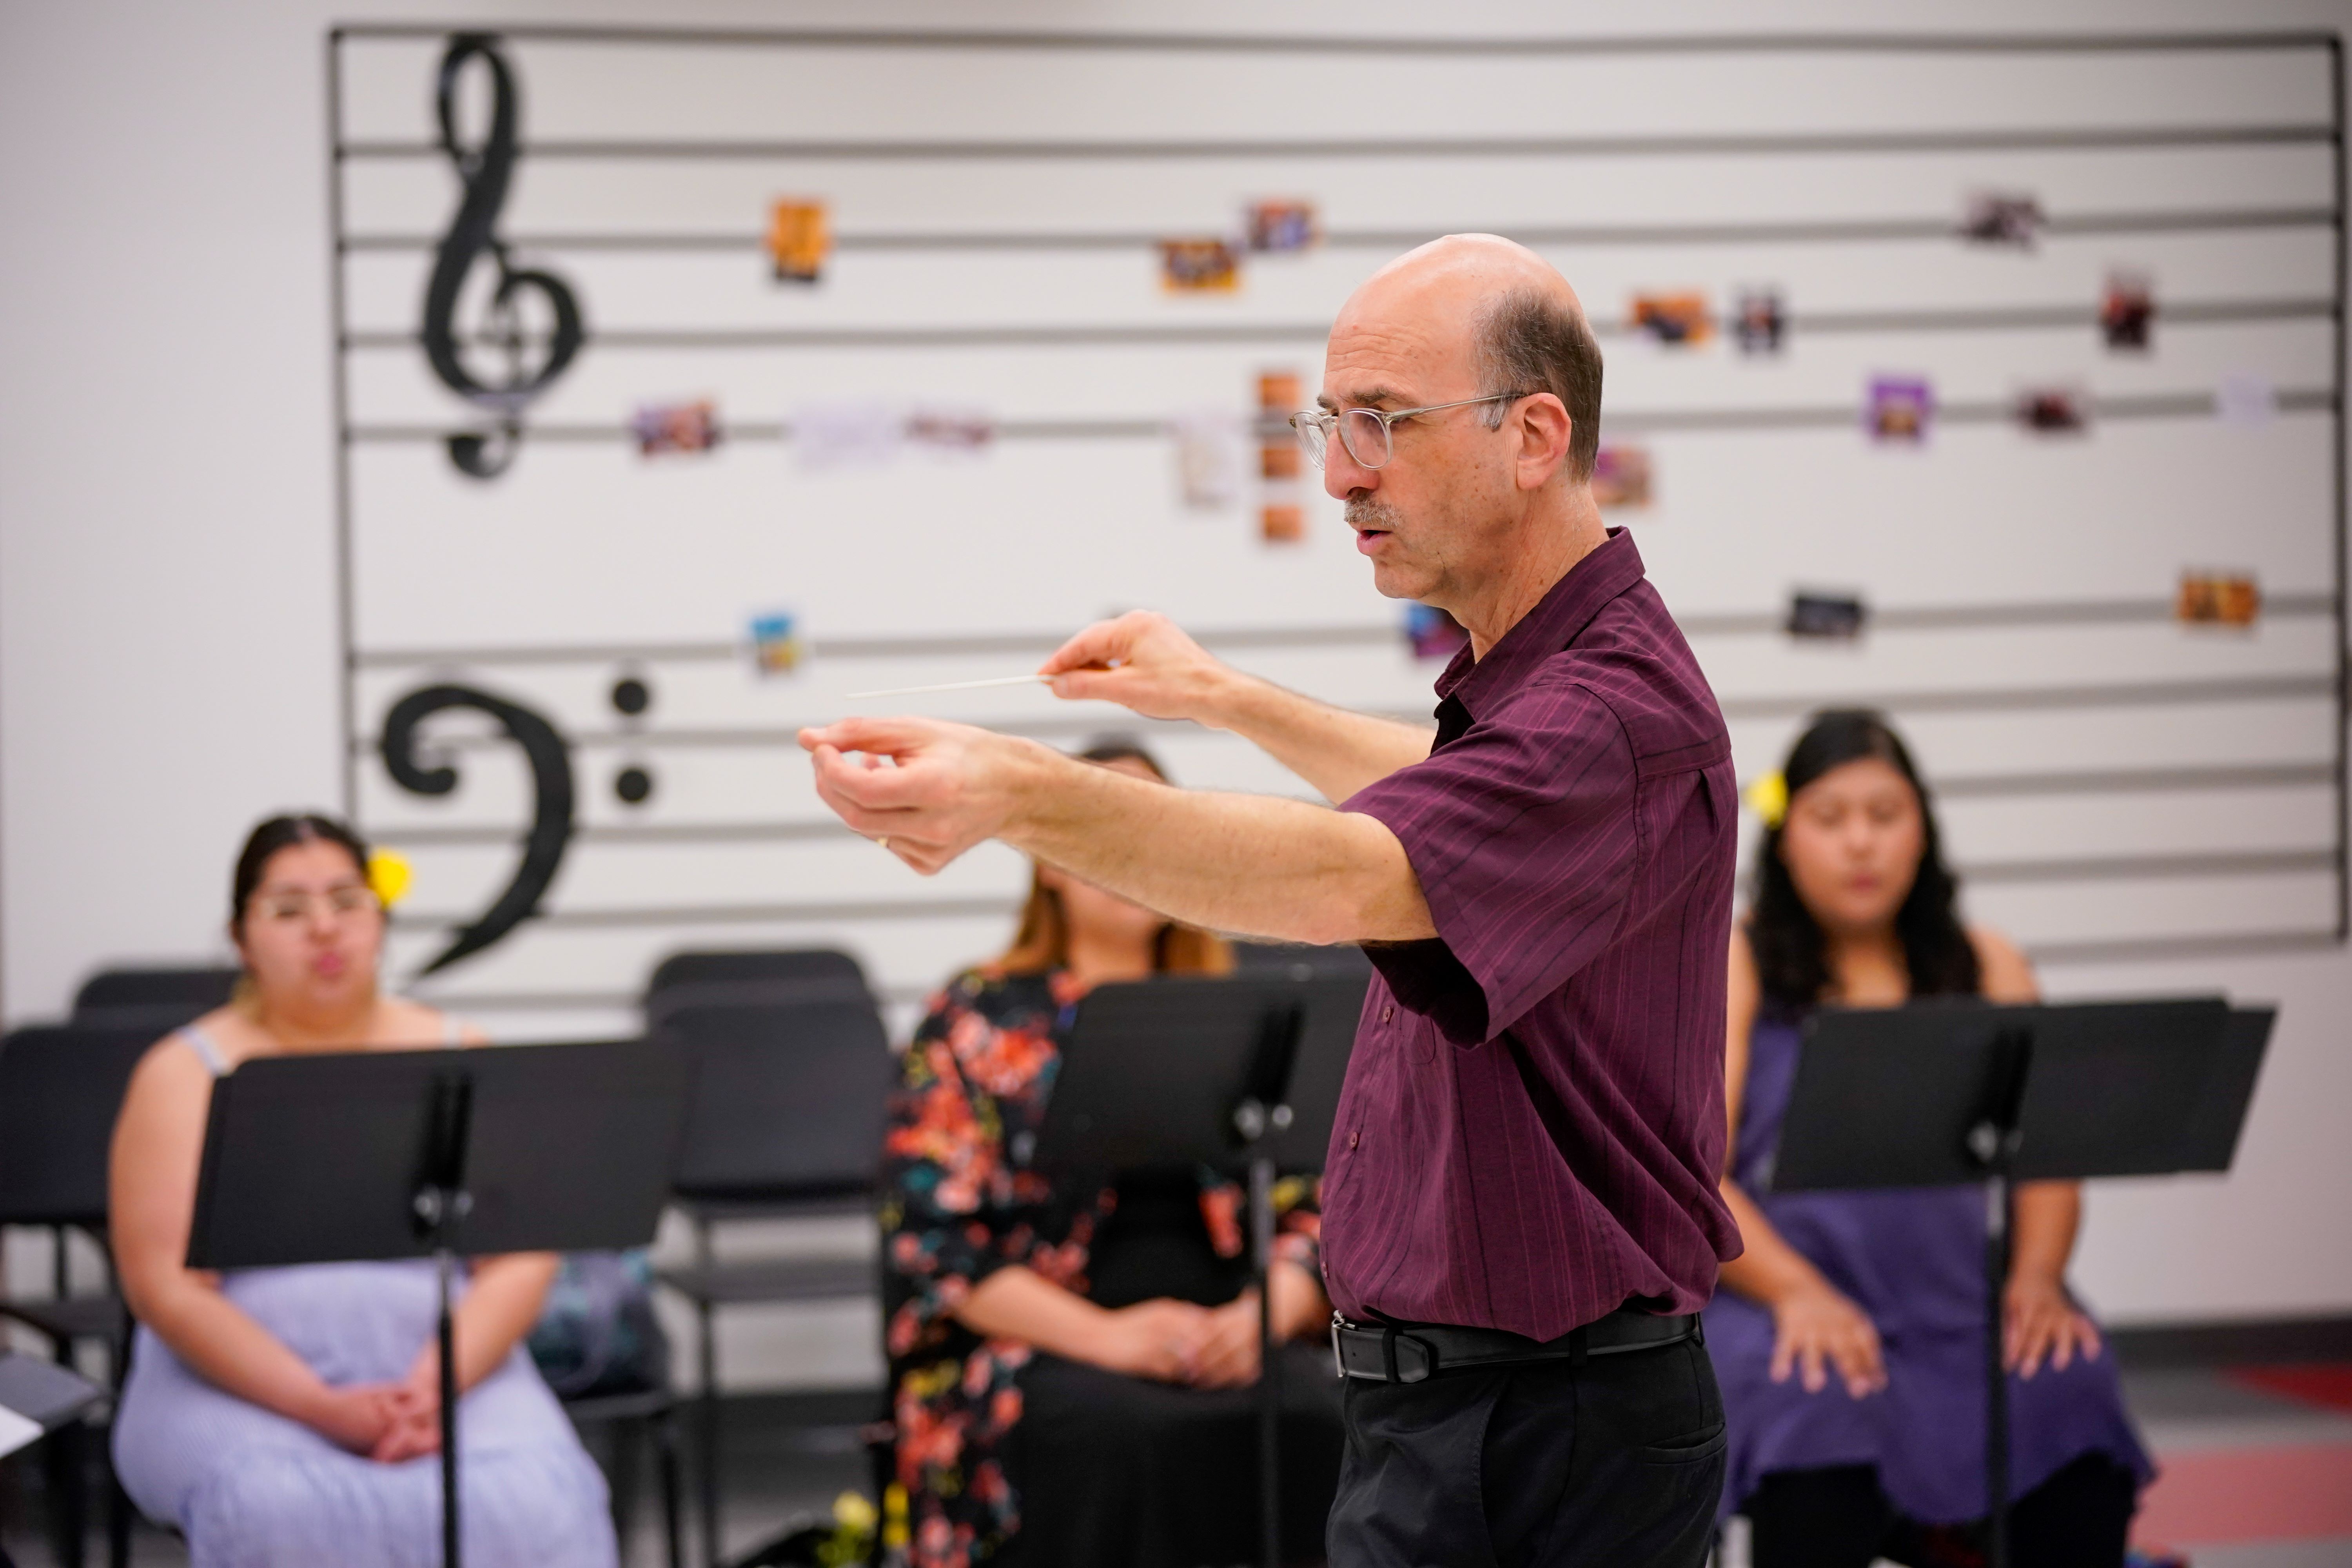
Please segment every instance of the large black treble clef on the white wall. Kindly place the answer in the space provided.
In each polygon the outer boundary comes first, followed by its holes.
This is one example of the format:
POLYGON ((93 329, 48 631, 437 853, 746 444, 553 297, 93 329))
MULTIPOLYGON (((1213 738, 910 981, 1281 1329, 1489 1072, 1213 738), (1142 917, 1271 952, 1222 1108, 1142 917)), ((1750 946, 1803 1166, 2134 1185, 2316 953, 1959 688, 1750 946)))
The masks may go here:
POLYGON ((456 219, 442 235, 440 254, 433 256, 433 280, 426 284, 426 360, 459 397, 489 409, 499 425, 489 435, 452 435, 449 461, 477 480, 506 473, 522 442, 522 409, 564 374, 581 350, 581 308, 572 287, 536 268, 517 268, 508 261, 506 242, 499 240, 499 209, 506 207, 506 186, 515 174, 517 122, 522 120, 515 75, 499 54, 499 40, 489 33, 456 33, 440 63, 440 129, 442 150, 456 165, 456 176, 466 186, 456 219), (468 61, 480 59, 489 68, 492 108, 489 134, 480 146, 459 143, 456 92, 468 61), (489 320, 482 334, 506 350, 506 374, 485 381, 473 374, 459 350, 456 308, 466 280, 482 256, 499 270, 499 282, 489 294, 489 320), (555 317, 546 357, 532 364, 529 341, 522 329, 522 296, 536 292, 555 317))

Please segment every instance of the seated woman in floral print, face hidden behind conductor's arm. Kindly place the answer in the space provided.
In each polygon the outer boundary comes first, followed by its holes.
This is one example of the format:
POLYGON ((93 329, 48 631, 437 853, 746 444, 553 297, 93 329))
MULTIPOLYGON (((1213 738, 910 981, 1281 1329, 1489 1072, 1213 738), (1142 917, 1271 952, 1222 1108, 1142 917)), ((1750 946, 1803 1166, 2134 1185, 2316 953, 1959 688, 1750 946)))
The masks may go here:
MULTIPOLYGON (((1164 780, 1134 745, 1089 762, 1164 780)), ((1040 865, 1021 933, 906 1053, 884 1138, 896 1486, 920 1568, 1195 1568, 1254 1554, 1258 1305, 1242 1192, 1209 1171, 1056 1190, 1028 1166, 1077 1001, 1230 950, 1040 865)), ((1277 1192, 1284 1549, 1319 1554, 1338 1396, 1310 1182, 1277 1192)))

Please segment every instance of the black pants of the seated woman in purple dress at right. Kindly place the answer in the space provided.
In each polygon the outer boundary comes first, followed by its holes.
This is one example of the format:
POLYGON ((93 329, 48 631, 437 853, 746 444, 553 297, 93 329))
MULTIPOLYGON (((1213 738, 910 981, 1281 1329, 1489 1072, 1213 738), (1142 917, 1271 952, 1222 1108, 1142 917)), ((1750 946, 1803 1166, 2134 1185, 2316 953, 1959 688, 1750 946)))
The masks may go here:
MULTIPOLYGON (((2009 1507, 2016 1568, 2122 1568, 2138 1486, 2103 1453, 2086 1453, 2009 1507)), ((1755 1568, 1912 1568, 1983 1563, 1983 1523, 1933 1528, 1896 1514, 1870 1465, 1773 1469, 1740 1509, 1755 1568)))

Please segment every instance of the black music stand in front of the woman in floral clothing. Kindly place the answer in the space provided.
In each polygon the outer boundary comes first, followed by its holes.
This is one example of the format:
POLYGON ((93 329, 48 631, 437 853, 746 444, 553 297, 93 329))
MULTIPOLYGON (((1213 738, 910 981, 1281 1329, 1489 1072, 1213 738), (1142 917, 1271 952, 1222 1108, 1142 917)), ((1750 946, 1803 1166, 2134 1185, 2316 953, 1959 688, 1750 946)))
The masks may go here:
POLYGON ((1077 1006, 1033 1152, 1040 1168, 1087 1175, 1181 1164, 1249 1178, 1263 1568, 1282 1563, 1275 1171, 1322 1168, 1364 985, 1364 976, 1284 973, 1094 990, 1077 1006), (1098 1060, 1117 1067, 1089 1065, 1098 1060))

